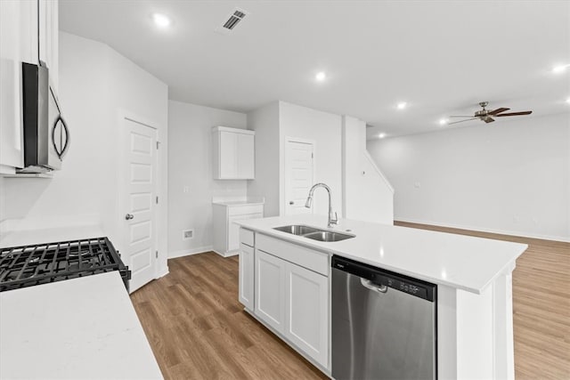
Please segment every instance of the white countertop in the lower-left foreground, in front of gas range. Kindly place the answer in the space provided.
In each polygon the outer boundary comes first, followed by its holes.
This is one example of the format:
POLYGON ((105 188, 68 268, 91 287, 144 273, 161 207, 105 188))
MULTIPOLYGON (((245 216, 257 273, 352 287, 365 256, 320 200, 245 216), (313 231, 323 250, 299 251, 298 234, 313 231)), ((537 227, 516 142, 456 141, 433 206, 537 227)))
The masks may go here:
POLYGON ((0 378, 162 378, 118 271, 0 293, 0 378))

